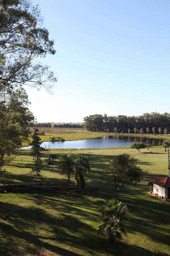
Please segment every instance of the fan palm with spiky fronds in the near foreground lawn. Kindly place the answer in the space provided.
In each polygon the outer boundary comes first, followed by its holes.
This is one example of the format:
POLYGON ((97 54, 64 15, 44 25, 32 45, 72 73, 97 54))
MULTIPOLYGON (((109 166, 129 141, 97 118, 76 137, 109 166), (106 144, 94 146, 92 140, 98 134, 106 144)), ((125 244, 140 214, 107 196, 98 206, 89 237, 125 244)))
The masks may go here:
POLYGON ((126 204, 117 199, 105 201, 105 204, 99 208, 100 221, 99 233, 104 232, 109 237, 109 242, 114 243, 116 239, 121 239, 122 234, 126 235, 127 230, 124 227, 124 216, 128 212, 126 204))

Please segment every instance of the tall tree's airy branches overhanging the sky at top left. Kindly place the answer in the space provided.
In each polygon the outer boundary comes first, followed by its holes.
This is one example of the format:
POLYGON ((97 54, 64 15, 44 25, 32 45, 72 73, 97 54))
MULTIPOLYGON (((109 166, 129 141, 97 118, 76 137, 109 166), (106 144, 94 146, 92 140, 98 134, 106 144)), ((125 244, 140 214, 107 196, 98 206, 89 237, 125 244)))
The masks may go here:
POLYGON ((23 84, 45 87, 57 79, 47 65, 37 61, 55 54, 54 41, 42 26, 38 5, 30 0, 1 1, 0 4, 0 81, 3 87, 23 84))

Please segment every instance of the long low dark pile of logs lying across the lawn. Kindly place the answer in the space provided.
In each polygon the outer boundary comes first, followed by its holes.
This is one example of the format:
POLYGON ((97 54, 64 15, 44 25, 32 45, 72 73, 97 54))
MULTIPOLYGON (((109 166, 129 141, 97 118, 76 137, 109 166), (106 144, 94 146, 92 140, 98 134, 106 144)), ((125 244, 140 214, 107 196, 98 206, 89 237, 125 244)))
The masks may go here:
MULTIPOLYGON (((95 188, 87 188, 84 189, 87 193, 91 193, 95 188)), ((55 192, 55 191, 75 191, 75 185, 69 185, 65 183, 58 183, 58 184, 36 184, 36 183, 19 183, 19 184, 7 184, 7 185, 0 185, 0 193, 29 193, 29 192, 55 192)), ((81 189, 78 188, 80 192, 81 189)))

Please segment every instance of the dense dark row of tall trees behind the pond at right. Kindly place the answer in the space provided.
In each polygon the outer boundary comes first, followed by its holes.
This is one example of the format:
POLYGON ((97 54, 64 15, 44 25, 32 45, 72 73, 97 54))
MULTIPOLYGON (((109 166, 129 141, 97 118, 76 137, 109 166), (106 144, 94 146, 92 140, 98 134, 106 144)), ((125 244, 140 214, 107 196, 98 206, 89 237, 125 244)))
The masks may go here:
POLYGON ((144 113, 141 116, 95 114, 84 117, 84 127, 93 132, 168 133, 170 131, 170 113, 152 112, 144 113))

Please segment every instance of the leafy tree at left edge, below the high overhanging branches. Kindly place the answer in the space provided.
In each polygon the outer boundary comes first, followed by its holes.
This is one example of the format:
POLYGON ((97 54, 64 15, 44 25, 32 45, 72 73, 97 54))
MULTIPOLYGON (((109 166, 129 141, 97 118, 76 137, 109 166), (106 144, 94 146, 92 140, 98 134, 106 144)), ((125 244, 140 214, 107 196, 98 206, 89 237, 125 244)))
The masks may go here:
POLYGON ((3 88, 0 83, 0 166, 5 155, 14 154, 30 134, 34 121, 28 110, 28 96, 23 88, 3 88))

